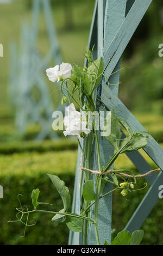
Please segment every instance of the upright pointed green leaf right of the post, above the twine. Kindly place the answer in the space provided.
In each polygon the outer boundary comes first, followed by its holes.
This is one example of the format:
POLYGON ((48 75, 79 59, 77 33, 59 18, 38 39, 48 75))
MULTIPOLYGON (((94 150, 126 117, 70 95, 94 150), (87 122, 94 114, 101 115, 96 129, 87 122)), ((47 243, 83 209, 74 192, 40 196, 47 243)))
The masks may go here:
MULTIPOLYGON (((105 122, 105 126, 107 123, 105 122)), ((115 115, 114 113, 114 109, 111 109, 111 132, 110 132, 110 135, 105 136, 105 138, 109 141, 112 147, 118 150, 120 149, 121 137, 122 137, 121 125, 118 121, 117 115, 115 115)))

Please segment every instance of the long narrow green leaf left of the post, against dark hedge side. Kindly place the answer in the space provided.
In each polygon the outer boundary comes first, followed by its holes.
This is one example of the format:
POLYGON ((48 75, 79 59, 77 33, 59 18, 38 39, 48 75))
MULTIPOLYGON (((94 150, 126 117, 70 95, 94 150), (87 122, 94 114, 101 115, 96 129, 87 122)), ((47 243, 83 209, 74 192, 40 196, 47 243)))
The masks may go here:
POLYGON ((53 182, 54 186, 57 188, 60 194, 60 197, 64 204, 64 211, 67 211, 71 202, 71 197, 70 197, 70 192, 68 190, 68 187, 65 186, 65 182, 60 180, 58 176, 51 175, 51 174, 47 174, 47 175, 51 179, 51 181, 53 182))

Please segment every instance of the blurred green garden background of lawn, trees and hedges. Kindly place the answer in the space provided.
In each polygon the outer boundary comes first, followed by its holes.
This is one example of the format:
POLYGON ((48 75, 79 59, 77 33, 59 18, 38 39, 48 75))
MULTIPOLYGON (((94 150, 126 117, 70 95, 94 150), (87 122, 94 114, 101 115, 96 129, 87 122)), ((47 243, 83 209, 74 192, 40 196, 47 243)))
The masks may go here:
MULTIPOLYGON (((0 43, 4 47, 3 57, 0 57, 0 185, 4 188, 4 198, 0 199, 0 245, 66 245, 68 228, 64 223, 52 223, 51 215, 37 214, 36 225, 27 227, 24 238, 20 237, 23 234, 20 223, 7 223, 9 219, 15 219, 17 194, 23 194, 23 203, 29 209, 32 207, 30 193, 33 188, 40 189, 42 202, 53 203, 55 210, 60 210, 60 197, 46 174, 59 175, 72 194, 77 161, 75 139, 64 138, 59 132, 59 138, 50 139, 47 136, 43 141, 36 141, 40 129, 38 124, 28 125, 23 134, 15 125, 12 95, 9 97, 9 44, 16 41, 19 48, 22 21, 27 20, 30 24, 32 20, 32 2, 0 1, 0 43)), ((53 21, 64 62, 83 66, 94 4, 94 0, 51 0, 53 21)), ((159 44, 163 44, 163 3, 155 0, 123 54, 124 69, 121 71, 119 96, 163 147, 163 57, 158 55, 159 44)), ((37 51, 45 57, 48 48, 46 22, 41 13, 37 51)), ((48 80, 45 72, 42 75, 48 80)), ((49 101, 53 102, 56 110, 55 84, 48 81, 47 84, 49 101)), ((18 100, 14 94, 13 97, 18 100)), ((141 153, 155 168, 152 160, 143 151, 141 153)), ((137 172, 126 156, 121 156, 116 168, 131 168, 137 172)), ((145 180, 139 182, 143 187, 145 180)), ((145 190, 131 193, 128 199, 118 193, 113 195, 113 235, 125 227, 148 188, 149 185, 145 190)), ((162 200, 158 200, 142 226, 145 230, 144 245, 163 244, 162 207, 162 200)), ((52 209, 52 206, 48 208, 52 209)))

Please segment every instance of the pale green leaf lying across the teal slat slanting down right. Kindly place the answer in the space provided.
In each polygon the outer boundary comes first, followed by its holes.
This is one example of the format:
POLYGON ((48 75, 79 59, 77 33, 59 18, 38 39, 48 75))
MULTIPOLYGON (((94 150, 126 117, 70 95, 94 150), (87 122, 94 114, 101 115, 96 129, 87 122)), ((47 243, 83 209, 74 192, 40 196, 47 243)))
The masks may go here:
POLYGON ((125 139, 123 139, 122 143, 121 143, 121 148, 124 147, 124 145, 127 143, 128 145, 121 151, 122 153, 128 153, 131 151, 135 151, 141 148, 145 148, 147 145, 147 139, 146 138, 142 138, 141 135, 133 137, 130 139, 130 137, 126 137, 125 139))

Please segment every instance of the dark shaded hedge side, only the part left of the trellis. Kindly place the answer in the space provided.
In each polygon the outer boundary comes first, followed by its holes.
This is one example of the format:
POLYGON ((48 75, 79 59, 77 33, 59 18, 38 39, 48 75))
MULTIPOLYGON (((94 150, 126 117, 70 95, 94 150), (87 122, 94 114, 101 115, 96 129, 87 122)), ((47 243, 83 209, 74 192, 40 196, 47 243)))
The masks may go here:
MULTIPOLYGON (((50 172, 52 173, 52 172, 50 172)), ((72 194, 74 175, 62 174, 66 185, 72 194)), ((42 202, 53 203, 54 206, 42 206, 40 209, 60 210, 62 208, 61 199, 55 191, 52 182, 45 173, 38 173, 34 176, 28 175, 5 175, 1 176, 1 184, 4 187, 4 199, 0 204, 0 245, 65 245, 67 244, 68 229, 64 223, 52 223, 51 214, 35 214, 30 216, 31 222, 36 218, 37 223, 33 227, 27 227, 26 236, 23 235, 24 227, 20 223, 7 223, 8 220, 16 219, 18 207, 17 194, 23 194, 22 203, 32 209, 30 194, 33 188, 39 188, 40 200, 42 202)))

